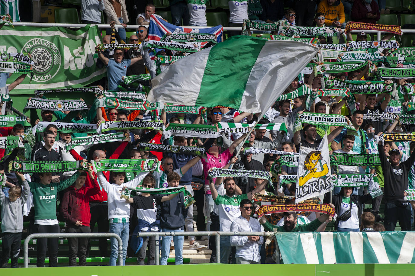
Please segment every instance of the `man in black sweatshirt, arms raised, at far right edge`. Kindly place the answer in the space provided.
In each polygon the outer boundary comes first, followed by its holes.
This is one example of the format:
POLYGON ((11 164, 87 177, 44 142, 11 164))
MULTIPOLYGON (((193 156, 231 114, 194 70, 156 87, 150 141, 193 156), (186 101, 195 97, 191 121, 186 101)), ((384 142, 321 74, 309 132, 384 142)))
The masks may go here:
MULTIPOLYGON (((382 132, 379 132, 380 136, 382 132)), ((408 189, 408 175, 411 166, 415 161, 415 154, 411 154, 409 159, 399 164, 400 151, 393 149, 389 153, 389 160, 383 151, 381 141, 378 142, 379 157, 383 171, 383 181, 385 184, 385 225, 386 231, 393 231, 396 222, 403 231, 411 230, 411 205, 403 200, 403 192, 408 189)))

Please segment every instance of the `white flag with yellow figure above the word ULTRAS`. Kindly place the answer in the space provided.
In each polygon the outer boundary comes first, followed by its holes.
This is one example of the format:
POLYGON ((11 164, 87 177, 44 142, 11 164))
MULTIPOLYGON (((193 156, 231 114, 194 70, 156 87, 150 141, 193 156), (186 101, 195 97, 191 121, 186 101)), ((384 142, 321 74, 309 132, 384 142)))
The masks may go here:
POLYGON ((318 149, 300 147, 295 204, 315 196, 324 195, 330 192, 331 189, 330 156, 326 134, 318 149))

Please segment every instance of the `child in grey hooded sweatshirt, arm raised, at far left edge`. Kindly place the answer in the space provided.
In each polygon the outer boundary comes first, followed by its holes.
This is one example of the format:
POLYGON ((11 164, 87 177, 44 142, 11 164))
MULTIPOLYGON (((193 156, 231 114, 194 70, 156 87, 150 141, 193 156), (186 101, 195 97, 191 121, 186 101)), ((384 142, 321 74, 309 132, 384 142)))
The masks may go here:
POLYGON ((7 267, 10 252, 12 267, 17 267, 23 230, 22 207, 30 193, 29 184, 23 174, 15 173, 22 180, 23 191, 20 186, 13 186, 9 190, 9 198, 6 198, 5 194, 0 190, 0 204, 2 207, 2 254, 0 256, 0 268, 7 267))

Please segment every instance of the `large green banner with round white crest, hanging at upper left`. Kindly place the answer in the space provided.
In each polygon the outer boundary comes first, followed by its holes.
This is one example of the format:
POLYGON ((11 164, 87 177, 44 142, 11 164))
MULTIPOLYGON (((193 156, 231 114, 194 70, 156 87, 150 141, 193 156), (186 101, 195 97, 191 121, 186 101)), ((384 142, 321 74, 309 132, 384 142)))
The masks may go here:
MULTIPOLYGON (((27 77, 10 94, 33 94, 37 89, 78 88, 105 76, 95 66, 99 29, 87 25, 78 30, 63 27, 4 26, 0 29, 0 53, 32 54, 33 79, 27 77)), ((11 83, 15 78, 9 78, 11 83)))

